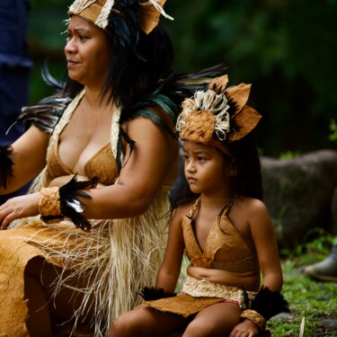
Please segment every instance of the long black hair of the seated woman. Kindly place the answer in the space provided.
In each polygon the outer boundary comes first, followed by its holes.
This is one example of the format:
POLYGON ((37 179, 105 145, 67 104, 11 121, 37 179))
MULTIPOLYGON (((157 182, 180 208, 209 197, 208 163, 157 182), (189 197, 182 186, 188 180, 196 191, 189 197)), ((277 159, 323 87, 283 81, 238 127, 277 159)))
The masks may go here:
MULTIPOLYGON (((160 78, 173 71, 173 44, 159 25, 147 35, 139 31, 137 53, 134 46, 115 42, 118 39, 111 33, 109 40, 112 58, 102 97, 108 97, 122 109, 137 102, 160 78)), ((75 97, 83 87, 67 77, 65 93, 75 97)))

